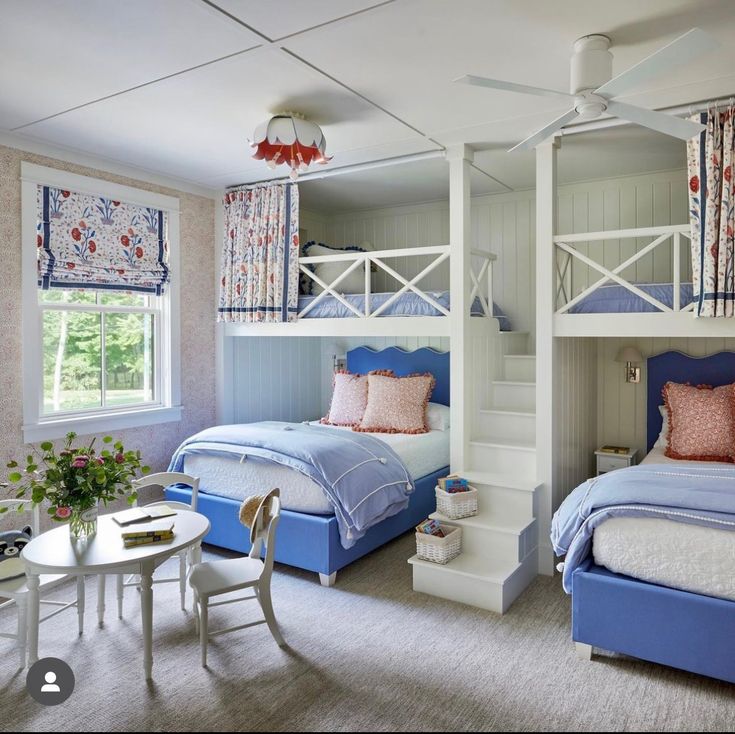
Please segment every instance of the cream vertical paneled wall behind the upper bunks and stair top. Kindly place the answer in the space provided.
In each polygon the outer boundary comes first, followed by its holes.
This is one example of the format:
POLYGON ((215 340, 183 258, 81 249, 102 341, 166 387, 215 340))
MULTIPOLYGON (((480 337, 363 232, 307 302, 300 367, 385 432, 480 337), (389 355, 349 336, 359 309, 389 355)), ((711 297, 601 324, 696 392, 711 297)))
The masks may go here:
MULTIPOLYGON (((684 170, 565 184, 558 188, 558 232, 591 232, 623 227, 681 224, 687 221, 684 170)), ((302 227, 314 227, 319 215, 302 214, 302 227)), ((332 245, 369 242, 376 250, 446 245, 449 242, 448 202, 431 202, 382 209, 321 215, 323 240, 332 245)), ((309 237, 312 237, 311 231, 309 237)), ((472 239, 475 247, 498 256, 493 289, 495 301, 510 317, 513 328, 535 333, 535 201, 533 191, 476 196, 472 199, 472 239)), ((580 250, 613 267, 648 244, 646 240, 605 240, 580 250)), ((397 258, 396 270, 415 275, 428 263, 423 258, 397 258), (419 262, 422 261, 422 262, 419 262)), ((671 245, 643 258, 623 275, 633 280, 670 281, 671 245)), ((682 248, 682 278, 689 273, 688 248, 682 248)), ((579 292, 594 272, 575 263, 572 288, 579 292)), ((373 275, 375 291, 394 291, 396 282, 384 272, 373 275)), ((448 287, 448 266, 437 268, 424 281, 432 290, 448 287)))

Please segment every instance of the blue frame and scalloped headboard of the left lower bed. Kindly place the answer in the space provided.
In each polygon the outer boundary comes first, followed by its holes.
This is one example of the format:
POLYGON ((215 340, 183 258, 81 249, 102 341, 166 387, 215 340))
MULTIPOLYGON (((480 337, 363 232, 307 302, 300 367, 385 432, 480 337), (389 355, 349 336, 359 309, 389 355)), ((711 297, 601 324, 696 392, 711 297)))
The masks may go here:
MULTIPOLYGON (((429 348, 406 352, 398 347, 375 351, 369 347, 358 347, 347 352, 347 368, 351 372, 363 374, 376 369, 391 369, 397 375, 431 372, 436 378, 431 400, 449 405, 449 352, 437 352, 429 348)), ((407 532, 433 512, 436 509, 434 487, 437 479, 446 476, 448 470, 449 467, 442 467, 433 474, 417 479, 416 491, 411 496, 408 507, 370 528, 349 550, 342 547, 334 515, 310 515, 283 510, 278 526, 276 560, 289 566, 315 571, 324 577, 331 576, 407 532)), ((253 489, 260 492, 269 488, 253 489)), ((169 487, 165 494, 170 500, 191 500, 191 490, 187 488, 169 487)), ((200 492, 198 511, 209 518, 212 526, 204 542, 247 553, 250 550, 249 534, 240 524, 239 509, 238 500, 200 492)))

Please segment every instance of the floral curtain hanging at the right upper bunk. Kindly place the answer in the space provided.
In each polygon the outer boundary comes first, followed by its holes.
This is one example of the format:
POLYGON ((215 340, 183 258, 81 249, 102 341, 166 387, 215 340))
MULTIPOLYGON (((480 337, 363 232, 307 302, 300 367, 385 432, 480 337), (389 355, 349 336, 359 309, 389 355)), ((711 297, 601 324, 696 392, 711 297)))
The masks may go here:
POLYGON ((707 126, 687 144, 692 278, 698 316, 735 316, 735 108, 692 119, 707 126))

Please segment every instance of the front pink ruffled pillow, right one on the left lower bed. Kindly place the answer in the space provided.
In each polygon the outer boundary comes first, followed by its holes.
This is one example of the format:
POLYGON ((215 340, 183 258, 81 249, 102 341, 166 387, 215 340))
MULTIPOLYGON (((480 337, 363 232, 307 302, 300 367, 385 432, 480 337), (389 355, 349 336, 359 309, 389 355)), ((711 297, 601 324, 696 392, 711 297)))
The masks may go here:
POLYGON ((370 433, 428 433, 426 406, 434 389, 434 376, 371 372, 368 402, 356 431, 370 433))

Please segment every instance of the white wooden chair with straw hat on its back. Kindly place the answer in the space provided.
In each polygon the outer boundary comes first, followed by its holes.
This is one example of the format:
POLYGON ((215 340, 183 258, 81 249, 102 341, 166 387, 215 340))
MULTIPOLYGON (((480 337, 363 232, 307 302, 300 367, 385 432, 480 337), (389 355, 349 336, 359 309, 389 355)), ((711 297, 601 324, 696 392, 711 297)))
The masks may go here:
POLYGON ((271 603, 271 575, 275 555, 276 527, 281 515, 281 500, 278 489, 271 490, 261 503, 250 529, 250 554, 245 558, 231 558, 210 563, 198 563, 189 575, 189 583, 194 589, 195 603, 199 607, 199 641, 202 649, 202 666, 207 666, 207 643, 210 637, 226 632, 267 624, 276 642, 283 647, 286 643, 278 629, 273 605, 271 603), (270 500, 270 522, 266 525, 265 508, 270 500), (261 559, 261 549, 265 543, 265 560, 261 559), (241 596, 210 603, 210 598, 221 594, 229 594, 241 589, 253 589, 252 596, 241 596), (232 604, 238 601, 257 599, 263 610, 264 619, 235 627, 209 631, 209 608, 232 604))

